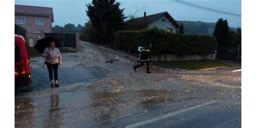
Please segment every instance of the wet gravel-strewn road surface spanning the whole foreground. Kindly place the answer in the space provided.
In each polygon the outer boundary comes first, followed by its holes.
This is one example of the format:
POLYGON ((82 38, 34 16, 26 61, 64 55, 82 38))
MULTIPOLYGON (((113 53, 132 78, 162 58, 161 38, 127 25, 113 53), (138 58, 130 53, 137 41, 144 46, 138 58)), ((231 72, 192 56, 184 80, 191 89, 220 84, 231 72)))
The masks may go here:
POLYGON ((15 97, 15 127, 241 127, 241 72, 232 72, 240 66, 146 74, 104 64, 60 67, 59 88, 34 66, 15 97))

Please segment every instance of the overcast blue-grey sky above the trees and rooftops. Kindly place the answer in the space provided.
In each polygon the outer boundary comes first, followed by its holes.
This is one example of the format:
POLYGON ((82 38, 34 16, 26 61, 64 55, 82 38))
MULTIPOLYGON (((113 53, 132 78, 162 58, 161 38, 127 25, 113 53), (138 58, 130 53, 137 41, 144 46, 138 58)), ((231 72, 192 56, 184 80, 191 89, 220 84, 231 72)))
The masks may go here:
MULTIPOLYGON (((71 23, 84 25, 89 20, 85 10, 86 4, 92 0, 15 0, 18 5, 45 6, 53 8, 55 25, 64 26, 71 23)), ((241 16, 224 15, 212 11, 194 8, 184 4, 173 2, 172 0, 116 0, 120 2, 120 8, 124 9, 125 16, 134 14, 142 17, 144 11, 147 15, 157 14, 167 11, 177 21, 203 21, 217 22, 219 18, 227 19, 228 25, 234 28, 241 27, 241 16)), ((241 15, 241 0, 185 0, 192 4, 211 8, 218 11, 230 12, 241 15)))

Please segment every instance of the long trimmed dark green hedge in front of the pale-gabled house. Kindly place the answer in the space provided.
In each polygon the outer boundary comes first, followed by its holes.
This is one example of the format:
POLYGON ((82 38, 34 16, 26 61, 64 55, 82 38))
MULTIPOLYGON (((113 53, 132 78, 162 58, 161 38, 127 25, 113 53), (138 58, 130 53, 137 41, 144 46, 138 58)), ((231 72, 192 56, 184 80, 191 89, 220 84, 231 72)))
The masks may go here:
POLYGON ((205 35, 181 35, 161 29, 117 31, 113 47, 124 52, 138 52, 138 46, 152 43, 152 55, 209 55, 215 50, 215 38, 205 35))

